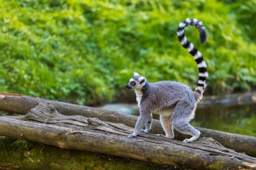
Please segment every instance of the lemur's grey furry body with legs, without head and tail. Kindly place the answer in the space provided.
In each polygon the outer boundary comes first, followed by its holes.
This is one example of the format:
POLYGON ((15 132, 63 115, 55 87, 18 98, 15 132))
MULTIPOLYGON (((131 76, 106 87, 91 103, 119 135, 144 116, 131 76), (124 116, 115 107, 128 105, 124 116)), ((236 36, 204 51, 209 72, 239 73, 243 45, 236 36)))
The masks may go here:
MULTIPOLYGON (((138 81, 136 83, 139 83, 138 81)), ((200 132, 193 128, 189 121, 194 118, 196 99, 193 91, 187 85, 174 81, 160 81, 148 83, 148 88, 142 95, 139 103, 139 118, 133 134, 137 136, 139 131, 148 133, 152 124, 152 113, 160 114, 162 128, 167 138, 174 138, 172 126, 179 132, 199 136, 200 132), (173 111, 173 113, 172 113, 173 111), (148 124, 150 122, 150 124, 148 124), (141 130, 146 125, 146 130, 141 130)), ((141 93, 143 86, 135 88, 136 93, 141 93)), ((138 97, 138 96, 137 96, 138 97)), ((187 140, 184 140, 186 142, 187 140)), ((189 141, 188 142, 192 142, 189 141)))

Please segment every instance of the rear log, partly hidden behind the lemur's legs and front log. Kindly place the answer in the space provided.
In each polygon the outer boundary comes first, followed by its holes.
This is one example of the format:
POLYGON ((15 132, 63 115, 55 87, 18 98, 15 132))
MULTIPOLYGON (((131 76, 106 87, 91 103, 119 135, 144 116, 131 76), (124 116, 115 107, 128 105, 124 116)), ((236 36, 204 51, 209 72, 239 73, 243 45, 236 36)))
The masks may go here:
MULTIPOLYGON (((5 112, 26 114, 30 109, 34 108, 38 102, 49 102, 54 105, 59 113, 69 116, 80 115, 88 118, 98 118, 102 121, 125 124, 130 127, 134 127, 137 120, 137 116, 123 114, 121 112, 91 108, 84 105, 75 105, 61 101, 51 101, 26 95, 0 93, 0 110, 5 112)), ((205 128, 197 129, 201 132, 201 137, 212 137, 227 148, 232 148, 234 151, 256 157, 256 138, 253 136, 230 134, 205 128)), ((164 133, 159 120, 153 120, 151 132, 156 134, 164 133)), ((187 137, 177 131, 175 131, 174 134, 175 139, 178 140, 183 140, 187 137)))

